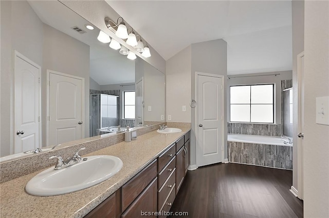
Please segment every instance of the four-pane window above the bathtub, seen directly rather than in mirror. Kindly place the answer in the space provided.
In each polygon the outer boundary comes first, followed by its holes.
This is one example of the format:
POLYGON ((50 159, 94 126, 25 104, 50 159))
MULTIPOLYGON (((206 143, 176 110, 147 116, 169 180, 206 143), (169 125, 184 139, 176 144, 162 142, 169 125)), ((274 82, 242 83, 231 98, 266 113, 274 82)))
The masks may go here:
POLYGON ((230 86, 230 122, 274 123, 274 84, 230 86))

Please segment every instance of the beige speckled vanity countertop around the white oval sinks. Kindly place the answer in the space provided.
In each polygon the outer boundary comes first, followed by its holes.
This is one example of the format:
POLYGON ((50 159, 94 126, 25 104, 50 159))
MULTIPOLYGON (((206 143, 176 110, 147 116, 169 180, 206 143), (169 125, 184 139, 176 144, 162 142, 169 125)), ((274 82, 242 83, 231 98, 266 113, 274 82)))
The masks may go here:
POLYGON ((140 136, 136 141, 120 142, 84 154, 84 156, 113 155, 122 160, 123 167, 112 178, 80 191, 50 197, 27 194, 24 191, 26 183, 43 169, 2 183, 1 217, 83 217, 189 130, 184 128, 181 133, 168 135, 153 131, 140 136))

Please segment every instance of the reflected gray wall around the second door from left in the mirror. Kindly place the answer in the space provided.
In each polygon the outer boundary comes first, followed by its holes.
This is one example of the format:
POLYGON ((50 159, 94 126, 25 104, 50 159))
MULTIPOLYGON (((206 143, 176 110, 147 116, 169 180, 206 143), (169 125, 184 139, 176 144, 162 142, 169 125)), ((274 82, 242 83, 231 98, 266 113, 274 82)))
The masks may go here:
MULTIPOLYGON (((46 120, 47 70, 84 78, 84 137, 89 137, 89 46, 46 24, 44 29, 43 68, 41 76, 42 119, 46 120)), ((42 123, 46 129, 46 122, 42 123)), ((43 144, 46 143, 43 132, 43 144)))

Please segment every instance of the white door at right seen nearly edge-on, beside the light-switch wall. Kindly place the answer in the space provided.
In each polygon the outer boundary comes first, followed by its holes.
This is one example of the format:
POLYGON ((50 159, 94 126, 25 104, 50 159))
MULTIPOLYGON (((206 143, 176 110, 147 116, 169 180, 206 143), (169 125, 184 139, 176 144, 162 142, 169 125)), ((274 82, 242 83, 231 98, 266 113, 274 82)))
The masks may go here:
POLYGON ((304 150, 304 52, 297 56, 298 77, 298 198, 303 200, 303 150, 304 150))

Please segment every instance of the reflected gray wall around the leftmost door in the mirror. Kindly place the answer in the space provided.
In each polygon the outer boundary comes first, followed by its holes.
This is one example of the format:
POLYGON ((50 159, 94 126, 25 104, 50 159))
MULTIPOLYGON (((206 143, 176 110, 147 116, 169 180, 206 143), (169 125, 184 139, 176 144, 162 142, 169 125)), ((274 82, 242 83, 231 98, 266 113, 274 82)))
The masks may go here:
POLYGON ((42 66, 42 22, 27 2, 1 4, 1 154, 13 143, 13 50, 42 66), (24 23, 24 25, 23 25, 24 23), (24 34, 22 34, 24 33, 24 34))

